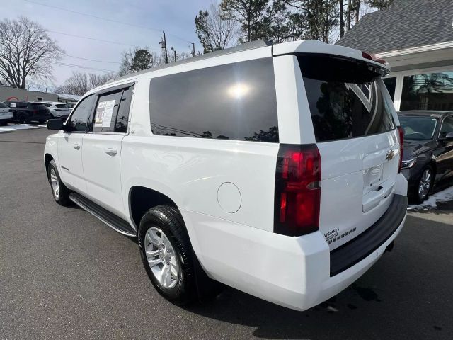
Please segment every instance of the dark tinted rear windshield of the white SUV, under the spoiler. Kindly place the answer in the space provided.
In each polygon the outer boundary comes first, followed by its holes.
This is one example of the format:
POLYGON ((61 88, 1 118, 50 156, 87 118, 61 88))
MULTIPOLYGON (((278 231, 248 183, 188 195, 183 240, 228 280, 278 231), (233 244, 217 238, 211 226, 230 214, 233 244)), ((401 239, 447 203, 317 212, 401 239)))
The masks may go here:
POLYGON ((384 71, 331 55, 299 55, 316 141, 341 140, 395 128, 384 71))

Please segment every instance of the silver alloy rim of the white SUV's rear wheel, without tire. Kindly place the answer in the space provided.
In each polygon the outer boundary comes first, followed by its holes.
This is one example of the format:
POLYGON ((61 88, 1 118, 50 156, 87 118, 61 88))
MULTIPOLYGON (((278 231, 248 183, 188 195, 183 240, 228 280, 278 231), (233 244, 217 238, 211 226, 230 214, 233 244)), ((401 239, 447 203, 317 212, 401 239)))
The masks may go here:
POLYGON ((164 288, 173 288, 178 283, 180 266, 170 240, 161 229, 151 227, 147 230, 144 251, 157 282, 164 288))

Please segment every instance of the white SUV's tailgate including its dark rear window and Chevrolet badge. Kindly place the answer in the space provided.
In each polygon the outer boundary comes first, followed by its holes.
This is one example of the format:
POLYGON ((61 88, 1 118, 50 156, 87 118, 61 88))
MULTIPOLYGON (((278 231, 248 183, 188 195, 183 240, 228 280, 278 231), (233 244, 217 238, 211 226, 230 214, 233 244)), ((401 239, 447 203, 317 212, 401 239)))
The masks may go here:
POLYGON ((319 230, 336 249, 377 222, 393 198, 393 104, 374 65, 332 55, 298 60, 321 154, 319 230))

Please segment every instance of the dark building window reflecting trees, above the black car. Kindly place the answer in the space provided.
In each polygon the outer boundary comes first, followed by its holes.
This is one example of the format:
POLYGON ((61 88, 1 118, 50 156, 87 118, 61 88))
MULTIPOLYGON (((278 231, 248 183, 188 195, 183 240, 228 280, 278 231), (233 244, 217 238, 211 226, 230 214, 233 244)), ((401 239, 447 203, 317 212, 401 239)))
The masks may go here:
POLYGON ((404 77, 400 110, 453 110, 453 71, 404 77))

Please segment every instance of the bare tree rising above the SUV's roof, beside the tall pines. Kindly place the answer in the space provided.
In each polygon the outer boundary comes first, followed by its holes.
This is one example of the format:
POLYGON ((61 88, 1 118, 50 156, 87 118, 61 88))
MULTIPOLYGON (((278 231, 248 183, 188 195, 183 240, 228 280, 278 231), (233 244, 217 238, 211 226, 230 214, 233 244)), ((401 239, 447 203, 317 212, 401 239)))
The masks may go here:
POLYGON ((222 18, 220 6, 214 2, 207 11, 200 11, 195 16, 195 27, 205 53, 230 47, 239 35, 236 21, 222 18))

